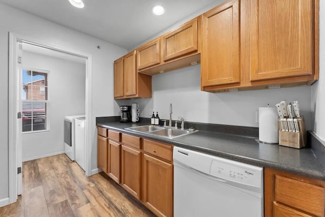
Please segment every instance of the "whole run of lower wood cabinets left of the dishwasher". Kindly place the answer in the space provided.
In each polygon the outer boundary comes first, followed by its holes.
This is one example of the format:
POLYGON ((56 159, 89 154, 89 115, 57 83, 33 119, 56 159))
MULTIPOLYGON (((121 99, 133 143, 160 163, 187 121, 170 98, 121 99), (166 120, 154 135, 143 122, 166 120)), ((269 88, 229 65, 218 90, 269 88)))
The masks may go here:
POLYGON ((173 216, 173 146, 98 131, 98 167, 157 216, 173 216))

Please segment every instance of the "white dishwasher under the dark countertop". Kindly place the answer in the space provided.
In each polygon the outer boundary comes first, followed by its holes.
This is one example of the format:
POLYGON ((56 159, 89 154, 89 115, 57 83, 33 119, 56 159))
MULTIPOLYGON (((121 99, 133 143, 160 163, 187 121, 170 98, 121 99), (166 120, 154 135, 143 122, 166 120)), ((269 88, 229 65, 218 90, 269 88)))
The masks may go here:
POLYGON ((263 168, 174 147, 174 216, 262 217, 263 168))

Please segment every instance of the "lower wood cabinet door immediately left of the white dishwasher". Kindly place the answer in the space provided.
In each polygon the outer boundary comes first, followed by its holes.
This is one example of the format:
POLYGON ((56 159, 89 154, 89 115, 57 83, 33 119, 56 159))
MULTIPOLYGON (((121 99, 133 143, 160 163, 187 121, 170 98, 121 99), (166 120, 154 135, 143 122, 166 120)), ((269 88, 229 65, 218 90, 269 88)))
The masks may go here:
POLYGON ((172 216, 172 165, 144 154, 143 176, 143 201, 146 206, 158 216, 172 216))

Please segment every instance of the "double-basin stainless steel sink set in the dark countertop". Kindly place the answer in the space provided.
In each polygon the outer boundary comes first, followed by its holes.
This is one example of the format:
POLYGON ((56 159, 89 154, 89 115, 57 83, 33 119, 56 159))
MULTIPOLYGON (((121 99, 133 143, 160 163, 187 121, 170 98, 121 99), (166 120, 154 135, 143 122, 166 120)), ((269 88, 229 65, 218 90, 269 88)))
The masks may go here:
POLYGON ((181 129, 175 129, 175 128, 169 128, 169 127, 159 127, 159 126, 152 126, 152 125, 125 128, 125 129, 136 131, 136 132, 141 132, 141 133, 148 133, 151 135, 169 138, 169 139, 173 139, 176 137, 185 136, 185 135, 188 135, 191 133, 198 132, 197 130, 189 131, 189 130, 181 130, 181 129))

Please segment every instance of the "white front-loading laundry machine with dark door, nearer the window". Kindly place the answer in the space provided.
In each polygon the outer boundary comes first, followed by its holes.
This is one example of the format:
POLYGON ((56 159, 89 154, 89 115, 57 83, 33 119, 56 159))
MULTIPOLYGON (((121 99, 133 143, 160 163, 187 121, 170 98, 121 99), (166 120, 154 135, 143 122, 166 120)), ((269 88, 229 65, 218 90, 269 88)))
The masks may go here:
POLYGON ((84 114, 69 115, 64 117, 64 152, 67 156, 75 160, 75 119, 84 117, 84 114))

